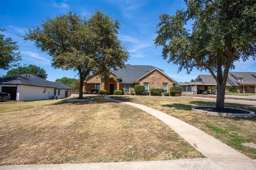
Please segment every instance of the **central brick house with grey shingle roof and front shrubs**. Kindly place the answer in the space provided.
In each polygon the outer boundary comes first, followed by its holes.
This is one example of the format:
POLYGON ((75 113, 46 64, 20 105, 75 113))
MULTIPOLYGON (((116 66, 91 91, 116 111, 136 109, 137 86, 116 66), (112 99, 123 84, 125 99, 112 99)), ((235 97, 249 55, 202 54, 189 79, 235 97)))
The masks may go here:
POLYGON ((84 81, 83 90, 97 92, 105 89, 108 94, 114 94, 114 90, 121 90, 123 94, 131 94, 135 85, 142 85, 145 86, 145 92, 150 92, 151 88, 163 88, 164 92, 170 92, 170 87, 175 84, 176 81, 160 68, 126 64, 125 68, 111 70, 106 81, 92 74, 84 81))

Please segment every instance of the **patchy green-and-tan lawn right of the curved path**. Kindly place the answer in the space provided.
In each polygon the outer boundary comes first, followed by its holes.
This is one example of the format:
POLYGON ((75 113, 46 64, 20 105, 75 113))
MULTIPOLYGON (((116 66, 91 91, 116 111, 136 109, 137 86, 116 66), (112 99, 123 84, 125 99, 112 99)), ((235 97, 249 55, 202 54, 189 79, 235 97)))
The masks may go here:
MULTIPOLYGON (((118 100, 143 104, 163 111, 193 125, 226 143, 239 152, 256 159, 256 149, 241 143, 256 143, 256 118, 227 118, 191 111, 194 106, 215 106, 215 102, 183 97, 113 97, 118 100)), ((226 103, 225 107, 247 109, 256 112, 256 106, 226 103)))

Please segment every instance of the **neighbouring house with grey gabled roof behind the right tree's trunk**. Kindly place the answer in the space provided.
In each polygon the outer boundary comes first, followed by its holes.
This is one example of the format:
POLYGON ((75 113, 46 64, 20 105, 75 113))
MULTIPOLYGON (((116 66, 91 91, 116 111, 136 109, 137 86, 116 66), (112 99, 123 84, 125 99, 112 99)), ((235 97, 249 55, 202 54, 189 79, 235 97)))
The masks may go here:
MULTIPOLYGON (((198 94, 202 90, 212 89, 213 86, 217 86, 216 80, 212 75, 199 74, 195 82, 182 82, 177 83, 177 86, 181 86, 183 93, 198 94)), ((238 93, 256 92, 256 72, 229 72, 228 80, 226 83, 226 90, 230 86, 234 86, 234 89, 238 93)))

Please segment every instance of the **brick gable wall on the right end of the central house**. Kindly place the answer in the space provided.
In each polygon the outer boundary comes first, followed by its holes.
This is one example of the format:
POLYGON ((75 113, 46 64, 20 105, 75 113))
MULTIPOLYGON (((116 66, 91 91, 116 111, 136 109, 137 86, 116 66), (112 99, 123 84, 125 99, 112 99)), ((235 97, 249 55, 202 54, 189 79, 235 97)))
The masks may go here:
MULTIPOLYGON (((146 76, 140 78, 140 85, 144 85, 144 83, 148 83, 149 89, 151 88, 163 88, 163 83, 168 84, 168 92, 170 92, 170 87, 173 86, 172 80, 168 78, 166 75, 162 74, 162 72, 158 70, 154 70, 147 74, 146 76)), ((150 91, 150 90, 149 90, 150 91)))

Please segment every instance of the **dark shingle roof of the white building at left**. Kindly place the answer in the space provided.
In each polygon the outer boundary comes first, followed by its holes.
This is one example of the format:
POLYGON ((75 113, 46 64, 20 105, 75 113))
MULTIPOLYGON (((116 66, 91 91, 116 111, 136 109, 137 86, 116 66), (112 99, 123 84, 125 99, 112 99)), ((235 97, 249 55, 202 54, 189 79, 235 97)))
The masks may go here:
POLYGON ((51 82, 46 79, 40 78, 33 74, 20 74, 17 76, 0 78, 0 84, 13 84, 13 85, 26 85, 26 86, 39 86, 48 88, 58 88, 58 89, 69 89, 71 87, 57 82, 51 82))

